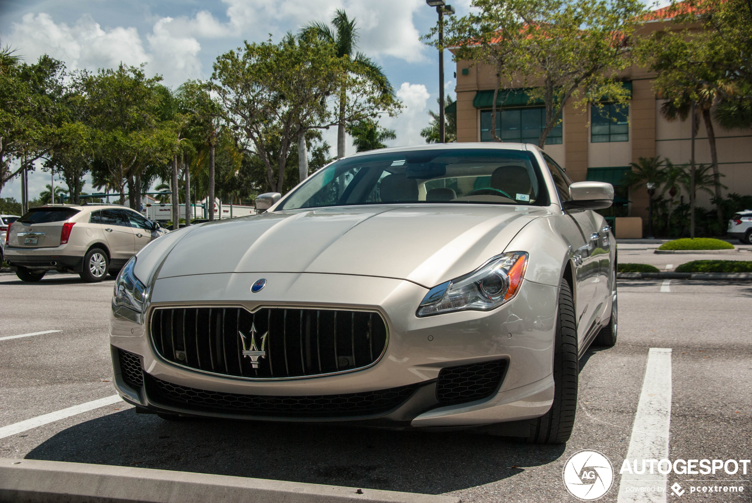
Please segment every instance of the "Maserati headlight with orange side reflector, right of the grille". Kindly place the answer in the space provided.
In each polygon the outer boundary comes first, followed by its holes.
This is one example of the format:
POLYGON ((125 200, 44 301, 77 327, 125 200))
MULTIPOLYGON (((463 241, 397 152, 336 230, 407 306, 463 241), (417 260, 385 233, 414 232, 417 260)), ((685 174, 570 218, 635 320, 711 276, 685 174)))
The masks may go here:
POLYGON ((498 308, 520 288, 527 258, 525 252, 504 253, 470 274, 434 286, 420 303, 417 316, 498 308))

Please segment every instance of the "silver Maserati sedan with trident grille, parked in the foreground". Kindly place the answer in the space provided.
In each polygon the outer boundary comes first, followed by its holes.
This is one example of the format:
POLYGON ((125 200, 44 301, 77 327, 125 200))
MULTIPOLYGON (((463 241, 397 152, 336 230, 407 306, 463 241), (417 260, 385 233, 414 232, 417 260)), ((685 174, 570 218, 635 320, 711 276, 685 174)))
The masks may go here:
POLYGON ((530 144, 357 153, 262 214, 156 239, 120 271, 111 349, 140 413, 569 439, 578 359, 617 337, 616 250, 530 144))

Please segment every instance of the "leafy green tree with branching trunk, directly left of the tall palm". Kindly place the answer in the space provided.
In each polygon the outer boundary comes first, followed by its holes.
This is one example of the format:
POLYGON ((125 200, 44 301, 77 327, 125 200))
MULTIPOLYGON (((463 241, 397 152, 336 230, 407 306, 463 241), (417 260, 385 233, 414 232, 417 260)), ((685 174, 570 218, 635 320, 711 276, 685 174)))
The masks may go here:
POLYGON ((288 34, 278 44, 246 42, 214 63, 211 89, 226 122, 238 147, 265 165, 268 186, 275 192, 284 187, 287 157, 300 130, 337 123, 329 100, 341 83, 350 82, 350 89, 359 92, 370 90, 349 77, 335 51, 312 35, 288 34), (274 141, 278 150, 271 147, 274 141))

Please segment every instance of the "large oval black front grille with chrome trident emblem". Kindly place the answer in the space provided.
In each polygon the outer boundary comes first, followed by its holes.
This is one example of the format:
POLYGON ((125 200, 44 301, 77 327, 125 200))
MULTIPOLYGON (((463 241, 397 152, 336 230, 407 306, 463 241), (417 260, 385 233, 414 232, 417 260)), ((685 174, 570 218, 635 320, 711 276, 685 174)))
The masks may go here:
POLYGON ((355 370, 387 346, 381 315, 363 311, 165 308, 151 317, 162 358, 235 377, 303 377, 355 370))

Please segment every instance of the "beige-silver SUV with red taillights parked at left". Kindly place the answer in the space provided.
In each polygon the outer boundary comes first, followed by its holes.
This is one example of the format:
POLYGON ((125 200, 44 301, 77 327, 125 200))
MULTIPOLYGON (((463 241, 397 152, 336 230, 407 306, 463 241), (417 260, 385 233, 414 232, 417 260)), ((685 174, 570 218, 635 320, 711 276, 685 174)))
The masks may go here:
POLYGON ((89 283, 117 276, 144 245, 167 230, 119 205, 30 208, 8 229, 5 260, 23 281, 47 271, 78 273, 89 283))

